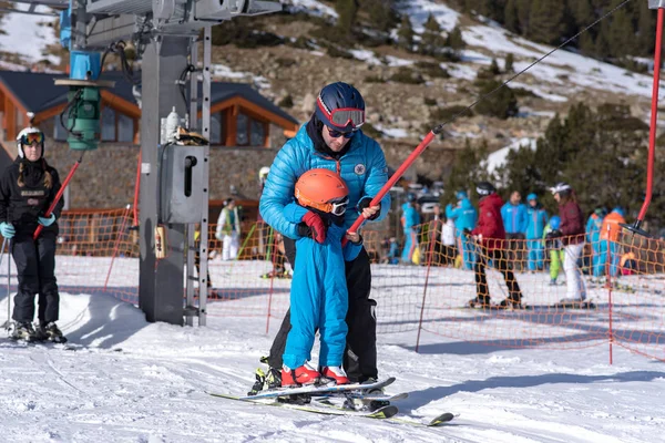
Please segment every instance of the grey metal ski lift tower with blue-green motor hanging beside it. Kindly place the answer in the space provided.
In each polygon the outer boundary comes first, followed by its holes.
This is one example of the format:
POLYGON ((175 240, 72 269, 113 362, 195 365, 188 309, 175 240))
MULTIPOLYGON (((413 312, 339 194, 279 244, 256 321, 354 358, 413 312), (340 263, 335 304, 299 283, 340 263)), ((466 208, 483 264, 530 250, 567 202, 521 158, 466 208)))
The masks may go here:
POLYGON ((37 4, 61 10, 61 41, 70 48, 71 71, 75 73, 64 84, 70 86, 72 100, 90 99, 80 106, 71 106, 81 112, 80 116, 74 112, 73 120, 68 120, 74 136, 68 140, 71 148, 96 148, 96 140, 81 144, 83 130, 78 131, 76 125, 83 122, 88 110, 89 127, 94 130, 96 124, 95 135, 99 134, 99 87, 109 85, 98 80, 102 69, 100 52, 121 40, 135 45, 142 60, 140 308, 149 321, 193 326, 194 317, 198 317, 198 324, 205 326, 209 146, 176 145, 164 138, 162 126, 165 121, 173 123, 173 119, 166 117, 175 116, 172 114, 175 111, 178 116, 187 116, 184 122, 177 120, 177 124, 209 140, 211 27, 238 16, 276 12, 282 4, 258 0, 19 0, 14 3, 30 3, 32 11, 37 4), (197 60, 201 40, 203 63, 197 60), (181 91, 187 86, 185 101, 181 91), (90 112, 95 105, 96 113, 90 112), (201 224, 201 265, 198 277, 194 278, 196 224, 201 224), (198 281, 198 305, 194 280, 198 281))

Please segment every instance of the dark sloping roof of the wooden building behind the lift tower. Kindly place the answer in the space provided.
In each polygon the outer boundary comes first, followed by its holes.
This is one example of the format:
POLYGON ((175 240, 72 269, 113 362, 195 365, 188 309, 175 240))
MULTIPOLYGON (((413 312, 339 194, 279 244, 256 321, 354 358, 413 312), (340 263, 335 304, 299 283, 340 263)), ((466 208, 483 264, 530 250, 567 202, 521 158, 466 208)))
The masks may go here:
MULTIPOLYGON (((137 73, 135 75, 140 76, 141 74, 137 73)), ((68 78, 66 74, 0 71, 0 82, 4 87, 9 90, 27 111, 35 114, 66 103, 68 89, 65 86, 57 86, 54 80, 68 78)), ((114 81, 115 86, 106 87, 105 90, 137 106, 136 99, 132 92, 132 84, 121 72, 104 72, 100 76, 100 80, 114 81)), ((273 114, 298 124, 296 119, 284 112, 279 106, 275 105, 248 84, 227 82, 213 82, 211 84, 211 102, 213 105, 235 96, 241 96, 273 114)))

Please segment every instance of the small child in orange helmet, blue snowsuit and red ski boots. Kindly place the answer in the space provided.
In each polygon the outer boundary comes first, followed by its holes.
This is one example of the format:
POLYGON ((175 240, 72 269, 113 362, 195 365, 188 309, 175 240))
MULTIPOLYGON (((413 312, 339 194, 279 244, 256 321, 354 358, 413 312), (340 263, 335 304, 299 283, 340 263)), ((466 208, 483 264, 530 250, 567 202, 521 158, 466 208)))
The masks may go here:
POLYGON ((345 261, 362 249, 358 233, 346 234, 344 215, 349 190, 339 175, 329 169, 310 169, 296 182, 296 202, 284 216, 310 227, 311 237, 296 240, 294 280, 290 291, 290 324, 286 339, 282 385, 317 382, 347 384, 341 367, 348 310, 345 261), (347 238, 342 247, 342 238, 347 238), (316 331, 320 336, 319 368, 309 364, 316 331))

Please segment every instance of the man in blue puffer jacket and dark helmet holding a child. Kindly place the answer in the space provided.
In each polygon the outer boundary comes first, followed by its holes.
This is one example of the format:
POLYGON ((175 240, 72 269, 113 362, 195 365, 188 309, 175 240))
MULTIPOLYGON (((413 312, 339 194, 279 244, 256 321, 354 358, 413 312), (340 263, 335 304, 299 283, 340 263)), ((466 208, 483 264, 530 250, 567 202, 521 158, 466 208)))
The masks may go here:
MULTIPOLYGON (((358 90, 337 82, 325 86, 318 94, 315 113, 296 136, 282 147, 270 165, 270 174, 259 200, 264 220, 284 236, 286 256, 295 266, 296 240, 309 236, 307 224, 296 224, 284 215, 284 208, 294 202, 298 178, 313 168, 326 168, 338 173, 349 188, 349 210, 345 228, 349 228, 361 215, 365 219, 381 220, 390 209, 390 194, 380 204, 370 202, 388 182, 386 157, 379 144, 365 135, 365 100, 358 90)), ((346 264, 349 293, 347 352, 344 368, 351 382, 378 378, 376 348, 376 301, 370 298, 371 271, 369 256, 362 248, 358 257, 346 264)), ((287 312, 279 332, 270 348, 267 363, 270 367, 262 380, 257 371, 256 388, 282 385, 283 354, 290 329, 287 312)))

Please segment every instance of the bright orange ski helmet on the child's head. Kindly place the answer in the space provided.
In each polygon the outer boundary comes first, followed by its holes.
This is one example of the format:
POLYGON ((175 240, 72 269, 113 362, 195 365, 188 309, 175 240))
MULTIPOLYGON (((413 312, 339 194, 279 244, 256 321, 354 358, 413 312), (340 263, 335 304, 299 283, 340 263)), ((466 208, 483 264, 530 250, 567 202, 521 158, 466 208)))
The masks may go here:
POLYGON ((310 169, 296 182, 296 199, 300 206, 339 216, 349 204, 349 188, 332 171, 310 169))

